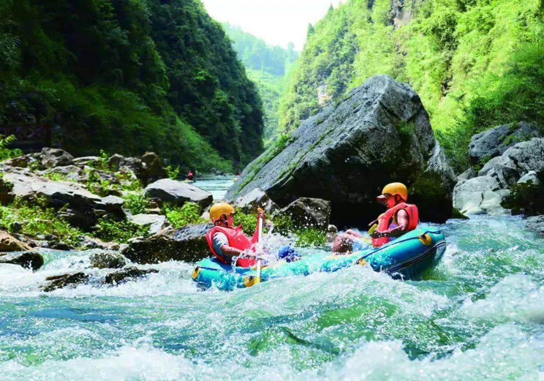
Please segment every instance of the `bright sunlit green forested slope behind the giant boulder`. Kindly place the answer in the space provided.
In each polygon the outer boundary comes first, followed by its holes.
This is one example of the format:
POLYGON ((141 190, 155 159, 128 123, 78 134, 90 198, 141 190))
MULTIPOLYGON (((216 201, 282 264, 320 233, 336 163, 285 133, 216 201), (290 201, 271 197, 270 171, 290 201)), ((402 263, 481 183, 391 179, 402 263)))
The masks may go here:
POLYGON ((455 167, 493 125, 544 122, 538 0, 349 0, 308 28, 280 104, 280 128, 377 73, 418 91, 455 167))

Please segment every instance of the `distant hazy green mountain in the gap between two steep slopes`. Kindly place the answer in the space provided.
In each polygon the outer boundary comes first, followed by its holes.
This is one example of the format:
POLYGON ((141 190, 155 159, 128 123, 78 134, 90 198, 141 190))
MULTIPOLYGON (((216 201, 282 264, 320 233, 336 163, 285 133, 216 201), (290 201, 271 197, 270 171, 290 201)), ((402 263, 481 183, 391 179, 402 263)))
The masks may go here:
POLYGON ((248 77, 257 85, 263 101, 265 145, 269 145, 279 131, 278 108, 280 96, 285 90, 285 74, 298 58, 293 44, 287 50, 269 46, 256 36, 224 23, 223 28, 232 39, 238 58, 246 67, 248 77))

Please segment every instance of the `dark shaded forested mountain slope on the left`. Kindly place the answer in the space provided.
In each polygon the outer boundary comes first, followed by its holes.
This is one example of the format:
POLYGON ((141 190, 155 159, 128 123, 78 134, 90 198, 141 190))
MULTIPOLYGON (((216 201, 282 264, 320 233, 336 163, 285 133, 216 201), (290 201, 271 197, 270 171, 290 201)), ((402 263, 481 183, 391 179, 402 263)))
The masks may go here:
POLYGON ((261 100, 199 0, 3 0, 0 89, 0 124, 54 123, 76 155, 227 170, 262 151, 261 100))

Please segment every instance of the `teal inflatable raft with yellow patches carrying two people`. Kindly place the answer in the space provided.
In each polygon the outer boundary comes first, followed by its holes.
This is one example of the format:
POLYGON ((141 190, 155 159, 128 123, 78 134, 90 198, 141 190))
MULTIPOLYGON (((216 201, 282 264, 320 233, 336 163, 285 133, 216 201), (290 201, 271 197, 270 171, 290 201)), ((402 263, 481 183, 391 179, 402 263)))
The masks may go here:
POLYGON ((287 263, 263 267, 256 280, 256 269, 226 265, 215 258, 203 259, 193 271, 193 280, 201 287, 212 285, 220 290, 251 287, 257 282, 289 275, 308 275, 314 272, 334 272, 353 265, 369 265, 394 278, 417 278, 425 269, 440 261, 446 241, 440 230, 416 229, 379 248, 355 251, 349 255, 312 254, 287 263))

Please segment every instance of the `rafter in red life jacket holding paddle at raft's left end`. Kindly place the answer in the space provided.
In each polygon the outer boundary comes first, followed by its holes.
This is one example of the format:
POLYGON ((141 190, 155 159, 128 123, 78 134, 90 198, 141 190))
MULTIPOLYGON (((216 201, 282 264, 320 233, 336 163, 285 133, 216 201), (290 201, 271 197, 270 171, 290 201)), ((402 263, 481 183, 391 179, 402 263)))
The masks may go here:
MULTIPOLYGON (((230 265, 233 257, 238 267, 252 267, 257 263, 255 243, 258 239, 258 228, 255 229, 253 237, 248 237, 242 231, 242 226, 233 227, 234 208, 226 202, 219 202, 209 210, 209 217, 213 222, 213 228, 206 235, 209 249, 218 260, 230 265)), ((264 212, 257 214, 257 219, 264 219, 264 212)), ((285 245, 277 253, 278 259, 293 262, 300 258, 300 255, 290 246, 285 245)))

